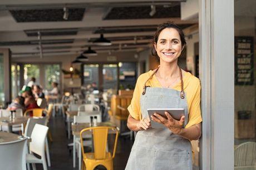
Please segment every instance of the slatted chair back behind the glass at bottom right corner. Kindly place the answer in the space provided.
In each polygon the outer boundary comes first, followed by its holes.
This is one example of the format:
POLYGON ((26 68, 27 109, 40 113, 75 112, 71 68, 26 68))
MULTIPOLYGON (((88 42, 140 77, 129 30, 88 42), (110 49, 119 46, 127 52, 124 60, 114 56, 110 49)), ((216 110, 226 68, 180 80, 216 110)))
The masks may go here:
POLYGON ((235 169, 256 169, 256 142, 245 142, 234 150, 235 169))

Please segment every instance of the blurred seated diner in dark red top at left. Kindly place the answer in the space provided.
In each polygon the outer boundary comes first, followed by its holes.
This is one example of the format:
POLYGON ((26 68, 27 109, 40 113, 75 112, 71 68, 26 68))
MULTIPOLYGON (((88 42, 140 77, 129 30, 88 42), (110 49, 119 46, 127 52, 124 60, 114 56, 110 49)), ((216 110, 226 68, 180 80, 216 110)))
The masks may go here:
MULTIPOLYGON (((22 90, 20 91, 21 96, 25 98, 24 105, 26 106, 26 110, 28 109, 36 109, 40 108, 37 105, 37 102, 35 100, 35 97, 33 96, 31 87, 29 86, 23 86, 22 90)), ((29 114, 29 116, 33 116, 32 113, 29 114)))

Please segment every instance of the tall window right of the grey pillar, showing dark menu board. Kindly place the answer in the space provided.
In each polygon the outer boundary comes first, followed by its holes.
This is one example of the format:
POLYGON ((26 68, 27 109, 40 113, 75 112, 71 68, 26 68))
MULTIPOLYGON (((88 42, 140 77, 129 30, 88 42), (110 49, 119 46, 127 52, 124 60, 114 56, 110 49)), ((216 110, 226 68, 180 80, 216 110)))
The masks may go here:
POLYGON ((254 0, 234 1, 235 138, 234 165, 254 167, 256 158, 256 6, 254 0), (253 156, 254 155, 254 156, 253 156))

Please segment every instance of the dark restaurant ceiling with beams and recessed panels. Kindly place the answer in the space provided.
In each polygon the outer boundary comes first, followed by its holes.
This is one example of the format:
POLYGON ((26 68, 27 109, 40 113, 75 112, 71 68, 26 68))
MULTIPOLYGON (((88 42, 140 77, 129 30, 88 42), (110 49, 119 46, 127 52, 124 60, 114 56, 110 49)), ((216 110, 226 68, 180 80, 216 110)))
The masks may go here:
POLYGON ((184 29, 197 24, 180 19, 180 2, 184 1, 1 0, 0 48, 10 48, 13 57, 38 57, 39 44, 43 56, 80 54, 88 46, 98 53, 139 52, 150 47, 160 23, 172 20, 184 29), (153 16, 151 5, 156 9, 153 16), (111 40, 111 46, 92 44, 100 33, 111 40))

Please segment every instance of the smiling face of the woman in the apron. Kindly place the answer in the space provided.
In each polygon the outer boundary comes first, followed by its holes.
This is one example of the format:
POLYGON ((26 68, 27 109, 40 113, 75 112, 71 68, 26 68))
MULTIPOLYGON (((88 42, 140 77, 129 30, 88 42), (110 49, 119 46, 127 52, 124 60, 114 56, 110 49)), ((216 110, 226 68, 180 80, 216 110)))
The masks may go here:
POLYGON ((179 32, 174 28, 163 29, 154 47, 160 58, 160 63, 173 63, 178 60, 182 51, 179 32))

